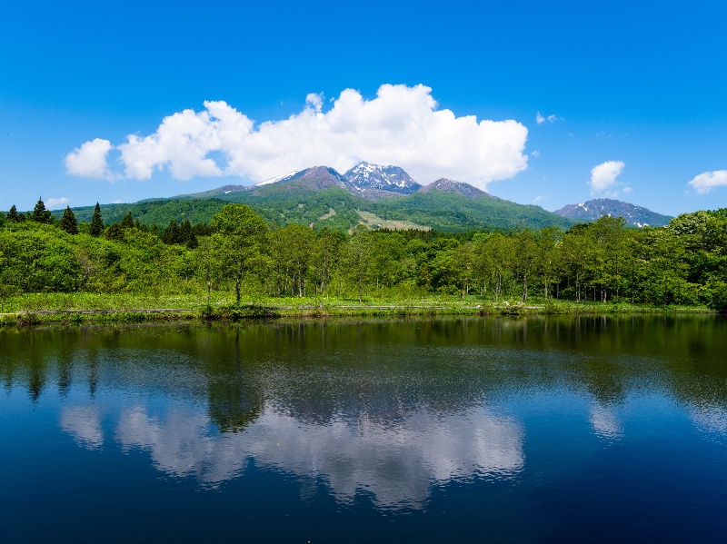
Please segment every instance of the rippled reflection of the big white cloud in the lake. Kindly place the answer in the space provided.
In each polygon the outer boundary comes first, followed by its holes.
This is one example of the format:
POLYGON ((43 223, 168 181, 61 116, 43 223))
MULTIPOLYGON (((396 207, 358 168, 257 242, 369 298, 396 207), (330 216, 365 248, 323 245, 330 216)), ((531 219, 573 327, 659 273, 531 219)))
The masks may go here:
MULTIPOLYGON (((101 445, 95 408, 65 409, 61 420, 79 444, 101 445)), ((506 478, 524 464, 521 425, 482 407, 446 414, 419 410, 386 425, 365 414, 316 424, 268 404, 244 432, 217 433, 204 411, 190 406, 173 405, 159 417, 136 405, 121 410, 115 440, 126 450, 148 451, 159 470, 204 484, 230 480, 253 460, 258 467, 322 480, 341 501, 366 492, 383 508, 419 508, 432 485, 506 478)))

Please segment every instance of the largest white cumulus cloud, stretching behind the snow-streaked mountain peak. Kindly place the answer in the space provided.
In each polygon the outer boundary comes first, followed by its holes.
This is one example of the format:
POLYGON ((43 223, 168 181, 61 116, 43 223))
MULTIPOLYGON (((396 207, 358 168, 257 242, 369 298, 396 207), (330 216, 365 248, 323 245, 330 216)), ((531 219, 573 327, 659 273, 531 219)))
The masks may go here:
MULTIPOLYGON (((208 101, 203 111, 169 115, 154 134, 129 135, 115 149, 123 175, 139 180, 166 170, 180 180, 237 175, 259 182, 316 165, 344 172, 365 160, 402 166, 419 183, 448 177, 485 188, 527 168, 523 124, 457 117, 437 109, 431 93, 421 84, 384 84, 366 100, 346 89, 327 111, 322 94, 308 94, 300 113, 260 124, 208 101)), ((66 157, 68 172, 109 179, 110 148, 106 140, 84 143, 66 157), (94 155, 100 143, 105 153, 94 155)))

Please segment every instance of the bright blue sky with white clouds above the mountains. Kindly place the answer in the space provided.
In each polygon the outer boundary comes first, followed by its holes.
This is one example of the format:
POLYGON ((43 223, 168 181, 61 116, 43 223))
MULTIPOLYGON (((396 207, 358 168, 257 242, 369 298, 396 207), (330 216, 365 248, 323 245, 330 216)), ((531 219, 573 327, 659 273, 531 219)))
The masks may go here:
POLYGON ((254 4, 6 0, 0 209, 358 159, 548 210, 727 206, 727 3, 254 4))

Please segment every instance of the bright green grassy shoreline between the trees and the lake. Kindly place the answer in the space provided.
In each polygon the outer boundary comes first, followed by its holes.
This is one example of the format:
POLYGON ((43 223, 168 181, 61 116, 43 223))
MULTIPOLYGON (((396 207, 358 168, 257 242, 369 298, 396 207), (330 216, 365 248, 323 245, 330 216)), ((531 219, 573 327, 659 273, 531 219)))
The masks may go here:
POLYGON ((333 317, 433 317, 610 315, 625 313, 717 313, 704 307, 649 306, 625 302, 533 301, 491 302, 470 298, 431 297, 421 300, 257 298, 239 306, 228 293, 215 293, 208 307, 198 296, 99 295, 35 293, 7 299, 0 307, 0 327, 84 325, 176 321, 235 322, 251 319, 324 319, 333 317))

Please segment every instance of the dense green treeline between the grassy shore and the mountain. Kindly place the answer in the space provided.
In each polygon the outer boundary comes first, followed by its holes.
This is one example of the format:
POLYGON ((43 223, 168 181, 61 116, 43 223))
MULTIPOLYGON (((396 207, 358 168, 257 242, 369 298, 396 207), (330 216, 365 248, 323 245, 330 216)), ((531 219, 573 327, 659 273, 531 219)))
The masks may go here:
POLYGON ((567 300, 727 307, 727 210, 683 214, 659 229, 603 217, 563 232, 370 231, 266 223, 226 204, 210 225, 149 229, 127 213, 105 225, 67 209, 0 217, 0 296, 25 292, 191 293, 488 302, 567 300))

